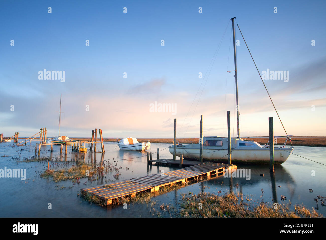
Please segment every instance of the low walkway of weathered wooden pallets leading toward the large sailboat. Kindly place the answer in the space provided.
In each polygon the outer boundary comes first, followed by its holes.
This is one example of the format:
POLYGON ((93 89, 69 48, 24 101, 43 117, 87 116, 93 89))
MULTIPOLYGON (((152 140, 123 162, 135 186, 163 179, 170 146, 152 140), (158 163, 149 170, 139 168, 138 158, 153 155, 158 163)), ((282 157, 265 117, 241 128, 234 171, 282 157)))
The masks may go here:
POLYGON ((82 188, 81 193, 87 193, 96 196, 103 200, 105 205, 112 204, 112 200, 131 196, 134 197, 136 193, 151 191, 157 192, 160 187, 166 185, 173 185, 176 183, 186 183, 189 180, 199 180, 200 176, 210 178, 211 175, 219 175, 224 170, 231 170, 236 168, 233 164, 221 163, 200 163, 190 167, 162 172, 161 174, 151 174, 144 177, 135 177, 119 182, 114 182, 110 185, 97 185, 89 188, 82 188))

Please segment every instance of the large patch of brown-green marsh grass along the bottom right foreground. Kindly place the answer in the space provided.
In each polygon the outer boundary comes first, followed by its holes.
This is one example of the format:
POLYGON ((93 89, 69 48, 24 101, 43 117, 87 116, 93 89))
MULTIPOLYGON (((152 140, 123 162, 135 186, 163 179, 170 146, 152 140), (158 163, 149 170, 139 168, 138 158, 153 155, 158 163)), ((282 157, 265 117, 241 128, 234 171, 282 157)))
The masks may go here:
POLYGON ((308 210, 298 204, 294 210, 290 209, 289 204, 277 204, 277 209, 263 202, 258 206, 253 206, 243 203, 240 195, 234 193, 226 193, 222 196, 211 193, 183 194, 179 214, 182 217, 322 217, 314 209, 308 210))

